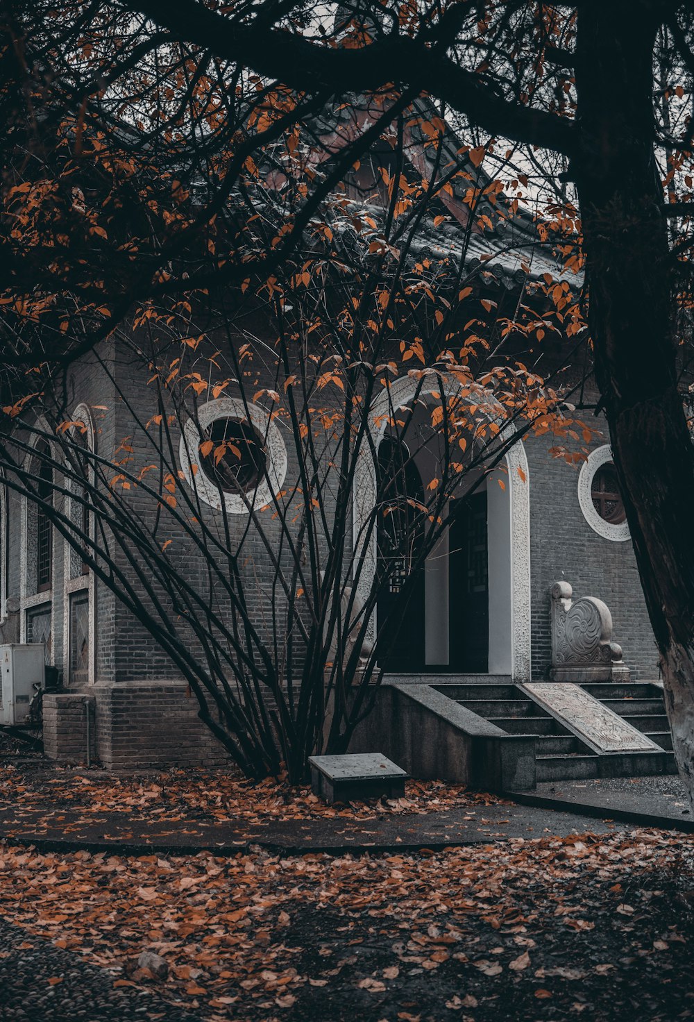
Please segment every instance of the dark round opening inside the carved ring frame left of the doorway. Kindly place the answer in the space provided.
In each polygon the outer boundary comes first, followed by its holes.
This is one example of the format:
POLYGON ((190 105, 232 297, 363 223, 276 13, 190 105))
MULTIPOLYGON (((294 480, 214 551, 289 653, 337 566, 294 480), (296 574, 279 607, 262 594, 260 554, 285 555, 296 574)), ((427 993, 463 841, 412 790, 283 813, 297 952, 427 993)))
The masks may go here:
POLYGON ((263 437, 246 420, 215 419, 203 431, 200 468, 225 494, 256 490, 265 473, 263 437))

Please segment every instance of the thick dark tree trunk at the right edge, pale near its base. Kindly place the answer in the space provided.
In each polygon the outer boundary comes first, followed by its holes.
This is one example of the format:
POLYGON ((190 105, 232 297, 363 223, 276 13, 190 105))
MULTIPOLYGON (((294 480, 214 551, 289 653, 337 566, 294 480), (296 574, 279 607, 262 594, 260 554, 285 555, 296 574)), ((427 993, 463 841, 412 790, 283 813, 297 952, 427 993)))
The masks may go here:
POLYGON ((615 0, 582 9, 584 143, 574 170, 598 385, 660 651, 675 753, 694 805, 694 457, 677 390, 675 280, 652 144, 661 6, 615 0))

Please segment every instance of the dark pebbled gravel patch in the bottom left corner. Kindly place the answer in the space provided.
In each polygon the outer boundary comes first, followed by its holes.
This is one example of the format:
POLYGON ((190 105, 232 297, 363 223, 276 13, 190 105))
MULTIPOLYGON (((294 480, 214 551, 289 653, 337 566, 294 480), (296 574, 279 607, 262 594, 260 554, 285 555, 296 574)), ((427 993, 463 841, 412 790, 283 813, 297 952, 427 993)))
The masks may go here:
POLYGON ((0 948, 0 1022, 200 1022, 6 920, 0 948))

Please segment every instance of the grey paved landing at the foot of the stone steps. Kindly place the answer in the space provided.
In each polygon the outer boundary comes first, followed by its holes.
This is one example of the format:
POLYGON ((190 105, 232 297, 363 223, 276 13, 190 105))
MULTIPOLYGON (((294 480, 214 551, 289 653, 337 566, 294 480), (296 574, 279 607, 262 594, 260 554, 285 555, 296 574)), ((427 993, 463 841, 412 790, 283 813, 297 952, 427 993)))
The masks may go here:
POLYGON ((511 792, 509 797, 528 806, 694 833, 685 786, 673 775, 551 781, 539 784, 536 791, 511 792))

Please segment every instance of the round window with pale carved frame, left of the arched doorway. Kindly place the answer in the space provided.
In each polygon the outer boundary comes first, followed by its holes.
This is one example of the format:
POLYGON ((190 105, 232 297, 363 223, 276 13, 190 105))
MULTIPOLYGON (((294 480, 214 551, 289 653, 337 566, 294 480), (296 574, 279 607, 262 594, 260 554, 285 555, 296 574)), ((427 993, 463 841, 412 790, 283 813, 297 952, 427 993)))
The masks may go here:
POLYGON ((258 405, 232 398, 200 405, 183 427, 183 475, 214 508, 246 514, 272 504, 284 482, 287 452, 275 422, 258 405))

